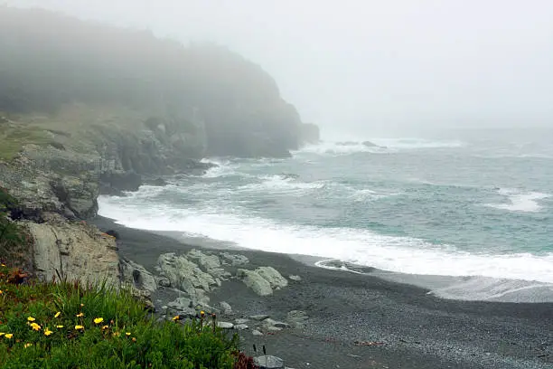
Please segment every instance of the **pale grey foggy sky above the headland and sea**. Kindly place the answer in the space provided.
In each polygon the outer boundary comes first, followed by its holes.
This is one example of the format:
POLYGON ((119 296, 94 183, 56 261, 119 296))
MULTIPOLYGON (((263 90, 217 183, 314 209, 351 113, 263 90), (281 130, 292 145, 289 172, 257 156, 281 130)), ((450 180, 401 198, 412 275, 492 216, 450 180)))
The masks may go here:
POLYGON ((553 127, 551 0, 10 0, 257 62, 323 127, 553 127))

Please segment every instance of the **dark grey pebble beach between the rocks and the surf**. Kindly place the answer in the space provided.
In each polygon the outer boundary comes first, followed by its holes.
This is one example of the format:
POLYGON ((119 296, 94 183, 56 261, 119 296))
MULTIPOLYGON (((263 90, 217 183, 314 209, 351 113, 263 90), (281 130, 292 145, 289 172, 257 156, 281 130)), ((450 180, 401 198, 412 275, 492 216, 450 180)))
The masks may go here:
MULTIPOLYGON (((106 218, 92 223, 121 236, 119 255, 154 270, 159 254, 199 246, 167 235, 127 228, 106 218)), ((236 250, 234 250, 236 251, 236 250)), ((548 368, 553 365, 553 304, 464 301, 437 298, 428 289, 370 274, 307 266, 288 255, 239 250, 251 267, 272 266, 288 278, 273 296, 258 297, 235 279, 210 294, 226 301, 236 317, 269 314, 284 319, 305 311, 305 329, 274 335, 240 332, 248 355, 267 347, 294 368, 548 368), (381 342, 364 346, 355 342, 381 342), (307 364, 309 363, 309 364, 307 364), (339 366, 338 366, 339 365, 339 366)), ((155 305, 167 298, 154 296, 155 305)))

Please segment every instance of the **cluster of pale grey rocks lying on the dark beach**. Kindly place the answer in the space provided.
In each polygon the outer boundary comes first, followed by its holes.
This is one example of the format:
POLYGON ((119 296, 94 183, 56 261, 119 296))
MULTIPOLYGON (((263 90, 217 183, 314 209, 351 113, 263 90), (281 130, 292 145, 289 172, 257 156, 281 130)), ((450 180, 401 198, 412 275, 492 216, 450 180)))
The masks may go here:
MULTIPOLYGON (((179 298, 161 307, 164 318, 175 316, 193 318, 197 317, 201 310, 208 314, 216 313, 229 317, 232 314, 232 307, 226 302, 212 307, 209 297, 209 293, 219 288, 225 281, 239 279, 258 296, 272 295, 274 291, 288 285, 288 280, 276 269, 258 267, 250 270, 246 268, 248 263, 249 260, 244 255, 193 249, 182 255, 174 252, 160 255, 155 266, 155 275, 131 260, 121 260, 119 269, 124 282, 134 289, 144 291, 145 295, 160 288, 179 293, 179 298)), ((290 278, 298 279, 297 276, 290 276, 290 278)), ((279 327, 271 326, 269 322, 270 320, 267 320, 265 323, 267 328, 271 327, 269 330, 276 330, 275 328, 279 327)), ((244 322, 229 323, 224 327, 248 329, 248 326, 244 326, 244 322)))

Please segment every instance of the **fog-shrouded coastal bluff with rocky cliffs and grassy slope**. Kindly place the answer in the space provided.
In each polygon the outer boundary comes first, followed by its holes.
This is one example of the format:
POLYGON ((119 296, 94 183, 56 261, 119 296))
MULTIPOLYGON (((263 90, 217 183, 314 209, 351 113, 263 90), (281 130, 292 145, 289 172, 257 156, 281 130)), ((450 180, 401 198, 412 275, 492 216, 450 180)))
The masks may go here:
POLYGON ((266 71, 225 47, 8 6, 0 34, 11 55, 0 226, 14 234, 0 237, 0 259, 42 279, 127 281, 117 240, 86 222, 98 195, 202 175, 205 157, 286 157, 319 139, 266 71))

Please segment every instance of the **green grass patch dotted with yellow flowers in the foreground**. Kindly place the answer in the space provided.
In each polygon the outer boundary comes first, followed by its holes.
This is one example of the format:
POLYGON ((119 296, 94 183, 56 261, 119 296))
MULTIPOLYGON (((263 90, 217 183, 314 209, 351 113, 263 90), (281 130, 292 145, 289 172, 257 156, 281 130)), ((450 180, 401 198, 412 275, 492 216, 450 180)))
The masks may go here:
POLYGON ((0 368, 237 367, 237 336, 211 319, 158 323, 127 290, 10 284, 16 272, 0 266, 0 368))

